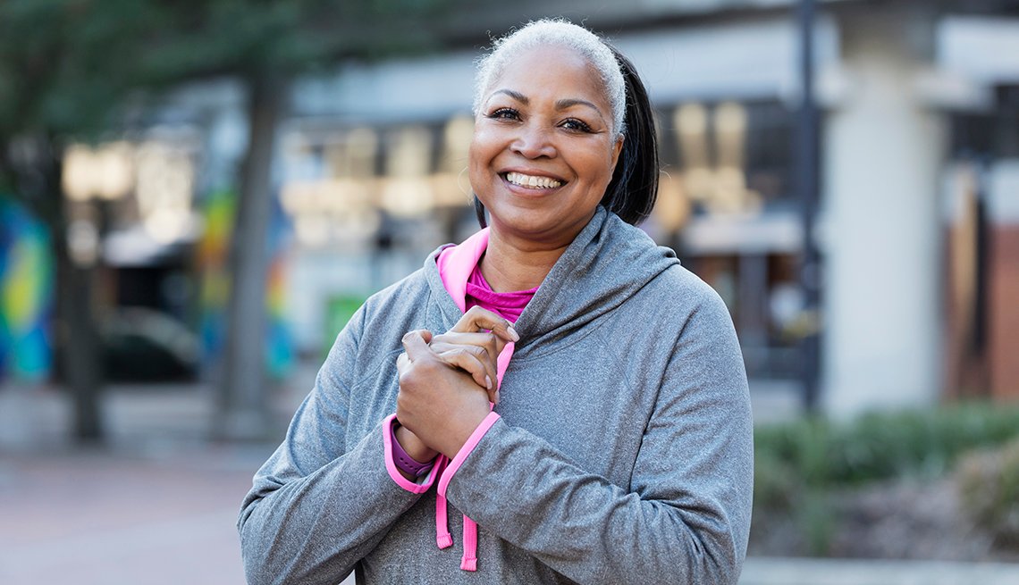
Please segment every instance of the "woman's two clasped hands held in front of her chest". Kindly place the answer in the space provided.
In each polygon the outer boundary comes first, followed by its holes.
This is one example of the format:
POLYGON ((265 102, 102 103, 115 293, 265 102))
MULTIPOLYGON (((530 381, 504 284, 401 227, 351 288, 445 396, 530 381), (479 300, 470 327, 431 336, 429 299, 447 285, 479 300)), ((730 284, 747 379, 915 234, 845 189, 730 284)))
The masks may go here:
POLYGON ((408 455, 452 459, 499 401, 497 359, 519 338, 513 326, 479 306, 446 333, 416 330, 404 336, 396 358, 396 441, 408 455))

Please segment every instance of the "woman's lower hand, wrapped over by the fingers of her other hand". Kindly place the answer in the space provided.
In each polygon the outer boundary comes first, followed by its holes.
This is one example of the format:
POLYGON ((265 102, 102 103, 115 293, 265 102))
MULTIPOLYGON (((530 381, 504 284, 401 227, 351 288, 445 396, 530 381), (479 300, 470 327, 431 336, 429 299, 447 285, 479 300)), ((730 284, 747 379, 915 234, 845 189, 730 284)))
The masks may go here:
MULTIPOLYGON (((471 374, 432 351, 430 338, 427 331, 404 336, 406 353, 396 359, 396 419, 424 445, 451 459, 488 415, 488 396, 471 374)), ((400 446, 408 448, 403 441, 400 446)))

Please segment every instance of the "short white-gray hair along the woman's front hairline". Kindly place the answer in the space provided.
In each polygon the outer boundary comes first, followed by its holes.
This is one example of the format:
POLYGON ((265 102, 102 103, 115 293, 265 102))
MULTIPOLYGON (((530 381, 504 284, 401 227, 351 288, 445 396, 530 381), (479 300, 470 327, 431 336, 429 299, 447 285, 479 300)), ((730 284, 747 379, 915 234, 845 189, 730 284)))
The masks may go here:
POLYGON ((474 114, 481 111, 485 93, 514 57, 527 49, 546 45, 573 49, 594 67, 605 86, 605 98, 612 109, 613 127, 616 133, 622 134, 626 130, 624 114, 627 98, 619 62, 611 49, 597 35, 564 19, 533 20, 494 42, 491 52, 478 59, 474 114))

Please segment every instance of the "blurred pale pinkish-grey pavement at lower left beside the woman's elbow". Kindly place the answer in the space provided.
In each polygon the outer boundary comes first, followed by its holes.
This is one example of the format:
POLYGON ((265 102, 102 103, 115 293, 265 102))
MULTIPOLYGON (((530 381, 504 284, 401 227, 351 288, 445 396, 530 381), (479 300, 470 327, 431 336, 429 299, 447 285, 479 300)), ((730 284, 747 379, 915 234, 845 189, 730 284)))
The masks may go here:
POLYGON ((0 582, 243 584, 234 522, 263 455, 0 455, 0 582))

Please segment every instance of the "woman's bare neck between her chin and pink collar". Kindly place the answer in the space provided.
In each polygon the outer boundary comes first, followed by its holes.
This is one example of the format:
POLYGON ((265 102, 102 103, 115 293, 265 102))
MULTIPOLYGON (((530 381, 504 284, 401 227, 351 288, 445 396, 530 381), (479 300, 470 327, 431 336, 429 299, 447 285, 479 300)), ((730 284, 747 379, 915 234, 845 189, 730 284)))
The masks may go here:
POLYGON ((541 285, 569 245, 569 242, 562 245, 533 242, 521 245, 500 237, 493 229, 489 233, 488 248, 481 258, 481 274, 495 292, 530 290, 541 285))

